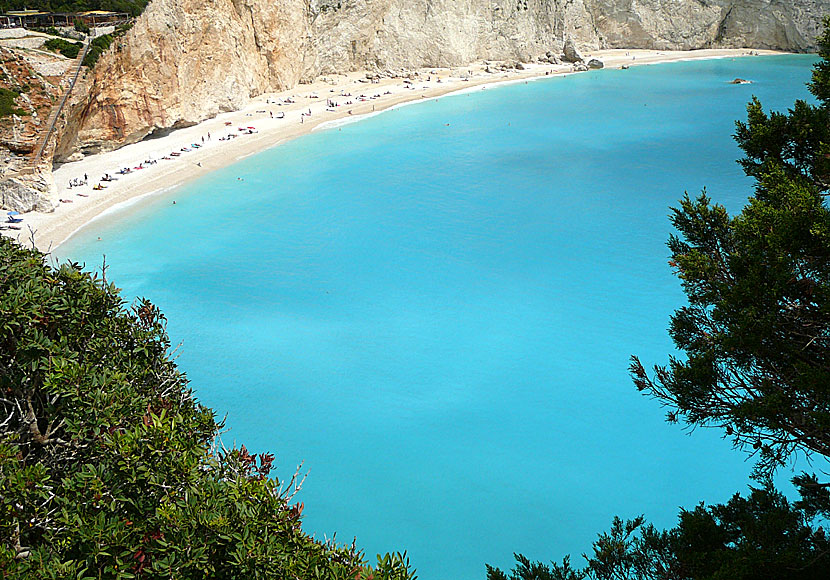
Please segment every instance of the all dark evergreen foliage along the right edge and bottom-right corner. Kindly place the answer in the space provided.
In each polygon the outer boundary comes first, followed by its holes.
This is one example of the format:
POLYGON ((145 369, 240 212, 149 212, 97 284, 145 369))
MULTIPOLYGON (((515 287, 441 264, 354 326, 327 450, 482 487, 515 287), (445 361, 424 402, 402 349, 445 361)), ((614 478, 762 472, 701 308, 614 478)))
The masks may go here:
POLYGON ((761 485, 683 510, 667 531, 617 519, 585 568, 517 555, 510 576, 488 566, 488 580, 827 577, 830 483, 795 477, 795 503, 771 483, 796 455, 830 459, 830 18, 818 46, 808 85, 817 105, 767 114, 753 99, 737 123, 740 163, 756 180, 740 215, 705 192, 672 210, 680 235, 669 240, 670 265, 688 305, 670 334, 685 360, 670 358, 653 377, 636 357, 631 365, 669 422, 721 429, 755 457, 761 485))

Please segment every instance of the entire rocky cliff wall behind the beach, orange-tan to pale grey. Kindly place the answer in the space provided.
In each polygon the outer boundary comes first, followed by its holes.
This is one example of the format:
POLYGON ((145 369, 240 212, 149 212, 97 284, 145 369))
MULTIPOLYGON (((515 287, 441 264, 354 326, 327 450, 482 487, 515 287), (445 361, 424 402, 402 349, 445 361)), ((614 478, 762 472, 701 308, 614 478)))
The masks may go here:
POLYGON ((320 74, 597 48, 814 45, 830 0, 153 0, 102 57, 57 149, 94 152, 320 74))

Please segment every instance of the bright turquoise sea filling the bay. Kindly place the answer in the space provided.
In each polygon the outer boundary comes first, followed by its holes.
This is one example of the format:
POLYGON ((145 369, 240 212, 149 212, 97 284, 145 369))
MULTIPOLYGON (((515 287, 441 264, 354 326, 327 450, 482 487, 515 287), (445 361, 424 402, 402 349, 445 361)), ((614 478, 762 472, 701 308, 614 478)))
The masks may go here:
POLYGON ((734 121, 753 94, 807 98, 813 62, 421 102, 142 200, 56 253, 106 255, 125 296, 162 308, 226 442, 275 452, 281 477, 305 462, 318 537, 406 549, 423 580, 483 579, 514 551, 579 563, 615 514, 669 526, 746 490, 745 456, 666 424, 627 367, 673 352, 669 207, 703 187, 743 205, 734 121))

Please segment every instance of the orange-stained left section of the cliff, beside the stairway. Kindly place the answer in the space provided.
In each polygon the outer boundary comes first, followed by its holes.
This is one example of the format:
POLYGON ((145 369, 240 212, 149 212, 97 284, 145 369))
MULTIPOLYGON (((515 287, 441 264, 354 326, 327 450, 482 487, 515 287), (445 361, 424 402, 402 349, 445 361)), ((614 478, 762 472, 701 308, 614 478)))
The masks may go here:
POLYGON ((95 67, 58 155, 111 149, 291 86, 303 66, 302 0, 159 0, 95 67))

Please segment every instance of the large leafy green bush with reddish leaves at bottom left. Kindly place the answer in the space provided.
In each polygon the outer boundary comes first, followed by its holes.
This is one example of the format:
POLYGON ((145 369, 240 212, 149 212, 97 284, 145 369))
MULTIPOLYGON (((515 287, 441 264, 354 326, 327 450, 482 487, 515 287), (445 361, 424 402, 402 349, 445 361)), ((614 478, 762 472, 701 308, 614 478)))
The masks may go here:
POLYGON ((414 578, 303 533, 273 455, 212 451, 165 324, 0 238, 0 577, 414 578))

